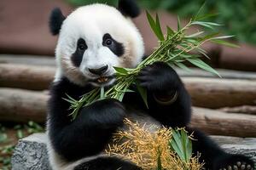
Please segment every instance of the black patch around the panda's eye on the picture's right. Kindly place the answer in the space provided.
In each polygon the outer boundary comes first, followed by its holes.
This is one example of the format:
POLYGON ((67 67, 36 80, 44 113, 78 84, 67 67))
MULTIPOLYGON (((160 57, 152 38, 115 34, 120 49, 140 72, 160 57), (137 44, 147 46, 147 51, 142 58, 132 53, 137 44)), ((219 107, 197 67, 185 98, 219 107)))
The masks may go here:
POLYGON ((105 34, 102 39, 102 45, 108 47, 113 52, 113 54, 122 56, 125 53, 123 44, 115 41, 113 37, 110 36, 110 34, 105 34))

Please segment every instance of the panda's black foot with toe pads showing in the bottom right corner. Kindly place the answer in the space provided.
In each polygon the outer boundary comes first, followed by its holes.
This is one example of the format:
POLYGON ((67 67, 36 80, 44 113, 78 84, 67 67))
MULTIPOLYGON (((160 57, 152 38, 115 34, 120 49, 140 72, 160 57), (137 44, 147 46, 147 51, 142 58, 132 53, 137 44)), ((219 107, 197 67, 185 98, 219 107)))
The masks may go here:
POLYGON ((254 163, 246 156, 225 155, 213 161, 214 170, 253 170, 254 163))

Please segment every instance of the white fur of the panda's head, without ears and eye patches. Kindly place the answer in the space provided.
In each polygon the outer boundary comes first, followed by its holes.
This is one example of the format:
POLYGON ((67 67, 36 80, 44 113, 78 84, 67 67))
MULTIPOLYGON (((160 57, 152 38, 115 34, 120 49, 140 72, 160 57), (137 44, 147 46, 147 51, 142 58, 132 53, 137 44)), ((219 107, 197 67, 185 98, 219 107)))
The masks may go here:
POLYGON ((67 16, 61 26, 61 32, 55 56, 57 71, 55 81, 63 75, 71 81, 84 85, 90 78, 88 68, 100 68, 108 65, 107 76, 114 73, 113 66, 135 67, 144 54, 143 38, 129 18, 125 18, 116 8, 105 4, 87 5, 67 16), (102 45, 102 37, 109 33, 113 39, 125 47, 121 57, 102 45), (88 48, 79 68, 71 62, 79 38, 84 38, 88 48))

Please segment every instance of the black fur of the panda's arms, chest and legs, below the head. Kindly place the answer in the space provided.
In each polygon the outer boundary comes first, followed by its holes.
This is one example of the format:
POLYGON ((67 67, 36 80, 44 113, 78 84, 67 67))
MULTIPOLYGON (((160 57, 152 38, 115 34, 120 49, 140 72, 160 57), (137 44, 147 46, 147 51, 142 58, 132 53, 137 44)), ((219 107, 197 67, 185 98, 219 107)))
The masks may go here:
MULTIPOLYGON (((55 83, 49 100, 49 136, 54 149, 67 161, 99 153, 108 144, 117 127, 122 126, 122 119, 129 114, 127 108, 131 106, 135 111, 140 110, 147 116, 154 117, 166 127, 186 127, 189 133, 194 132, 194 138, 197 140, 193 140, 193 153, 201 153, 200 161, 205 161, 207 169, 227 169, 227 166, 236 165, 237 161, 244 161, 246 165, 253 167, 253 161, 246 156, 227 154, 204 133, 187 127, 191 116, 189 94, 176 71, 169 65, 160 62, 148 65, 139 73, 138 81, 141 86, 147 88, 148 109, 138 93, 128 93, 122 103, 104 99, 84 107, 74 122, 70 122, 67 116, 69 104, 62 98, 67 98, 65 94, 69 94, 79 99, 80 95, 92 87, 81 88, 68 82, 66 78, 55 83), (176 92, 177 99, 169 105, 160 105, 154 98, 166 94, 172 99, 176 92)), ((87 166, 92 170, 104 169, 104 166, 105 169, 115 169, 119 165, 125 167, 124 169, 133 169, 132 164, 111 157, 84 162, 77 169, 86 169, 87 166), (113 167, 108 167, 110 162, 113 167)))

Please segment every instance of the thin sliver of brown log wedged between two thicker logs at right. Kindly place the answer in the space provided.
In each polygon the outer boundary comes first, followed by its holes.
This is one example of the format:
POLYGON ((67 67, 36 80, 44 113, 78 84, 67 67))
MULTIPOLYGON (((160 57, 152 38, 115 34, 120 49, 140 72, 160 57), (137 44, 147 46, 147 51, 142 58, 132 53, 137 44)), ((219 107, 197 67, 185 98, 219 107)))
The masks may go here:
POLYGON ((223 107, 218 111, 224 111, 227 113, 244 113, 249 115, 256 115, 256 105, 241 105, 236 107, 223 107))

